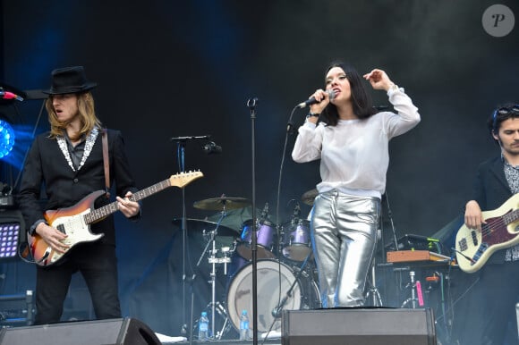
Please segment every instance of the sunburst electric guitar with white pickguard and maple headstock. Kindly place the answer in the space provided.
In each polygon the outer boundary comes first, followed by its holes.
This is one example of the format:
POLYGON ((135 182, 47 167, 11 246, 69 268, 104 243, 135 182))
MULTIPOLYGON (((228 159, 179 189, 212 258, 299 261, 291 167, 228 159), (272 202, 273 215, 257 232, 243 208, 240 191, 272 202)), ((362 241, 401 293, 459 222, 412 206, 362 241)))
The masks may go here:
MULTIPOLYGON (((203 177, 203 173, 177 173, 165 181, 160 181, 147 189, 133 193, 130 200, 139 201, 169 187, 183 188, 191 181, 199 179, 200 177, 203 177)), ((90 224, 96 223, 118 210, 117 201, 94 209, 94 202, 104 194, 105 190, 97 190, 85 198, 82 198, 81 201, 74 206, 45 212, 44 217, 47 223, 68 236, 63 241, 64 244, 70 246, 67 252, 79 243, 99 240, 104 236, 103 233, 96 234, 90 231, 90 224)), ((27 240, 29 242, 30 253, 37 265, 53 265, 66 254, 66 252, 56 252, 37 233, 34 233, 32 236, 28 235, 27 240)))

